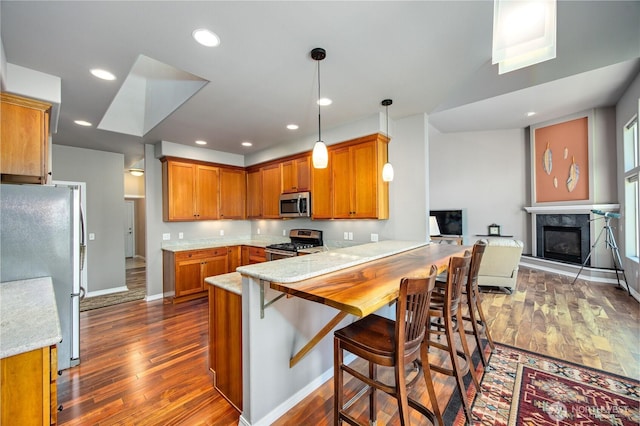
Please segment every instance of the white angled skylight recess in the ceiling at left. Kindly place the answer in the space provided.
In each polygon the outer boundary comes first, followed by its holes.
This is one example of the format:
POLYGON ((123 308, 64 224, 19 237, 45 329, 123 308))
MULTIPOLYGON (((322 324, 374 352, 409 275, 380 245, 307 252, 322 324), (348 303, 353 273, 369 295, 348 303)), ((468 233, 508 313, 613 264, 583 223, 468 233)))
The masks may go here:
POLYGON ((140 55, 98 129, 144 136, 208 80, 140 55))

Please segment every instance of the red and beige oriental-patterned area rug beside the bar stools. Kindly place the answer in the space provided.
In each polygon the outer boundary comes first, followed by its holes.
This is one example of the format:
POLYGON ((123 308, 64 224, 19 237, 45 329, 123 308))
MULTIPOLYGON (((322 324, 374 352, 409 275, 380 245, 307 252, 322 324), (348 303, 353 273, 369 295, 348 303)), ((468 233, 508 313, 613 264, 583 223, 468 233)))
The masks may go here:
MULTIPOLYGON (((481 387, 476 396, 468 386, 473 425, 640 424, 639 381, 506 345, 496 344, 481 387)), ((452 424, 465 422, 459 409, 452 424)))

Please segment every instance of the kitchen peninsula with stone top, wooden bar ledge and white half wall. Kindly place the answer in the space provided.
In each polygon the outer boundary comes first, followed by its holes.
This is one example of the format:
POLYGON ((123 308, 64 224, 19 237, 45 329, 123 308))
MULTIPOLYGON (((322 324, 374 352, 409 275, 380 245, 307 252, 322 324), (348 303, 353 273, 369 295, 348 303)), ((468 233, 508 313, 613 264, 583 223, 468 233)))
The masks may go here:
POLYGON ((371 312, 392 316, 400 278, 425 274, 431 264, 443 271, 467 248, 382 241, 238 268, 240 424, 272 423, 331 378, 333 329, 371 312))

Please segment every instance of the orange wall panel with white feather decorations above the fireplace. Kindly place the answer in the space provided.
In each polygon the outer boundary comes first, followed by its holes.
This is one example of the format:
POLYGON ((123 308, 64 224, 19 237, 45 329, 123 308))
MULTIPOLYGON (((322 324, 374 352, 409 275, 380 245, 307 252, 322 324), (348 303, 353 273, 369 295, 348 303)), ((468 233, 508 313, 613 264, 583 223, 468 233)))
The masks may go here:
POLYGON ((537 203, 589 200, 588 117, 533 132, 537 203))

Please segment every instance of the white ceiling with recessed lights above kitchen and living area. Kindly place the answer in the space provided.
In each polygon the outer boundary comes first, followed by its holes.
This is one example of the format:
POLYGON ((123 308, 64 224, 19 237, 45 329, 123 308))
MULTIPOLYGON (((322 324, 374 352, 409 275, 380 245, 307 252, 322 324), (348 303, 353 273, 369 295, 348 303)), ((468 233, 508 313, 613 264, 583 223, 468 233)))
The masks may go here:
POLYGON ((503 75, 491 65, 493 2, 484 0, 2 0, 0 34, 7 62, 62 80, 53 143, 123 153, 127 168, 159 140, 247 154, 317 134, 314 47, 327 51, 321 88, 333 100, 323 130, 383 112, 385 98, 391 120, 427 113, 441 132, 523 128, 615 105, 640 70, 640 2, 559 0, 557 10, 556 59, 503 75), (200 27, 220 46, 196 44, 200 27), (140 55, 209 83, 143 136, 97 129, 140 55), (95 67, 117 80, 96 79, 95 67))

